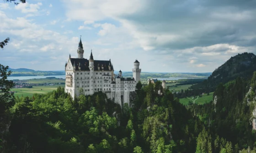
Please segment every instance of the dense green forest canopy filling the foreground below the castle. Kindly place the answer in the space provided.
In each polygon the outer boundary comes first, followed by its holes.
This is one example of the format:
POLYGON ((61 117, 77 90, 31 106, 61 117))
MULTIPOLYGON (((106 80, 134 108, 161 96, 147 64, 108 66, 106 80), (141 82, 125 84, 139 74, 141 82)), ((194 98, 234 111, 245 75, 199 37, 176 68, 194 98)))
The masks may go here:
POLYGON ((129 107, 103 92, 73 99, 61 87, 13 97, 11 72, 0 70, 3 153, 256 153, 256 72, 187 107, 161 82, 139 82, 129 107))

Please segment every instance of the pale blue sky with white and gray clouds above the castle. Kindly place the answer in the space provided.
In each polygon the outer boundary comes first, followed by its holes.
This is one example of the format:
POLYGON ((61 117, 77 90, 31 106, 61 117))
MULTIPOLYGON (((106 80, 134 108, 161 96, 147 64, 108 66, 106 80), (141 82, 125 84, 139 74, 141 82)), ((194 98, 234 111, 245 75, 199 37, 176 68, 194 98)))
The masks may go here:
POLYGON ((64 70, 77 57, 111 59, 115 70, 212 72, 256 53, 256 0, 0 0, 0 64, 64 70))

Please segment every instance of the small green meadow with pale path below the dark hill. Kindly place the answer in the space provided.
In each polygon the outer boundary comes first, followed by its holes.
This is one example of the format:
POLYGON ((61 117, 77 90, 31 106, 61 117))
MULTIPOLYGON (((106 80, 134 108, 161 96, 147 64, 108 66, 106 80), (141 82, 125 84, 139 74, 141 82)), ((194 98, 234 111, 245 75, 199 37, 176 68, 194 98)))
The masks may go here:
MULTIPOLYGON (((192 97, 189 97, 189 98, 192 99, 192 97)), ((192 101, 190 99, 188 99, 188 98, 181 98, 180 102, 183 105, 188 105, 188 101, 192 101)), ((197 99, 197 97, 194 98, 194 99, 197 99)), ((197 104, 204 104, 204 103, 210 102, 212 100, 213 100, 213 92, 210 92, 208 96, 207 96, 207 94, 203 94, 203 97, 198 97, 198 99, 195 101, 195 103, 197 103, 197 104)))

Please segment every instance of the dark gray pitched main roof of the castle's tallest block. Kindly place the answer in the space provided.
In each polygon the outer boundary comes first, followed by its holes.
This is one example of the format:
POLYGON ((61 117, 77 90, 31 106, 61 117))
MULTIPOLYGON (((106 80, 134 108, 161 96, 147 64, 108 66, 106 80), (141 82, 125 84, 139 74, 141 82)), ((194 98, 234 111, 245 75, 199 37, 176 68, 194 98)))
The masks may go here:
MULTIPOLYGON (((79 67, 79 63, 80 63, 80 66, 81 66, 80 70, 81 71, 90 71, 90 69, 89 69, 89 60, 84 59, 84 58, 70 58, 70 61, 71 61, 72 65, 74 65, 74 63, 75 63, 75 70, 79 70, 78 67, 79 67)), ((102 70, 102 67, 103 67, 103 70, 108 70, 109 71, 109 68, 108 68, 109 62, 111 62, 111 61, 95 60, 94 61, 94 70, 97 71, 98 70, 98 65, 99 65, 100 70, 102 70)), ((111 66, 110 70, 114 70, 113 66, 111 66)))

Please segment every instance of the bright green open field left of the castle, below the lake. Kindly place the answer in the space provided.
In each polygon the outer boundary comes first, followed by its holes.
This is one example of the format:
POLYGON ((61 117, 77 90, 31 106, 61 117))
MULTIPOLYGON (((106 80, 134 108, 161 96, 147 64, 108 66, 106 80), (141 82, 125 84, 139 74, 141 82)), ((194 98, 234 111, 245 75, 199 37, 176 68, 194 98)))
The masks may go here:
POLYGON ((11 91, 16 91, 14 96, 23 95, 24 97, 32 97, 34 93, 38 94, 46 94, 48 92, 52 92, 53 90, 57 90, 58 87, 64 87, 64 85, 56 85, 56 86, 33 86, 32 88, 13 88, 11 91), (42 90, 41 90, 42 89, 42 90))

